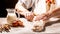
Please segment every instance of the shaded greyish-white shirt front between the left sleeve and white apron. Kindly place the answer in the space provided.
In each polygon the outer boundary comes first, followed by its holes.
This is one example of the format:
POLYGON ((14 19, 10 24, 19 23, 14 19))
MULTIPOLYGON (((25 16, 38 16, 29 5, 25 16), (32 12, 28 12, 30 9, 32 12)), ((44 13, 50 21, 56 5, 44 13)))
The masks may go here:
POLYGON ((26 9, 33 6, 35 0, 18 0, 17 4, 21 4, 26 9))

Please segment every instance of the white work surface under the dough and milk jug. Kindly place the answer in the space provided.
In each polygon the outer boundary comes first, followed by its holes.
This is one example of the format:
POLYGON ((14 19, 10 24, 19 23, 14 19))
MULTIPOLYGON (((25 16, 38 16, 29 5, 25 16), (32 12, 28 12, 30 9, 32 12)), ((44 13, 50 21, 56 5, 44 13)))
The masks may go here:
MULTIPOLYGON (((46 34, 46 33, 60 33, 60 21, 56 21, 57 23, 51 22, 49 26, 46 26, 44 32, 33 32, 31 30, 33 26, 33 22, 27 21, 25 18, 20 18, 20 20, 24 23, 25 27, 15 27, 11 28, 10 32, 2 32, 0 34, 46 34)), ((0 18, 0 22, 7 23, 6 18, 0 18)))

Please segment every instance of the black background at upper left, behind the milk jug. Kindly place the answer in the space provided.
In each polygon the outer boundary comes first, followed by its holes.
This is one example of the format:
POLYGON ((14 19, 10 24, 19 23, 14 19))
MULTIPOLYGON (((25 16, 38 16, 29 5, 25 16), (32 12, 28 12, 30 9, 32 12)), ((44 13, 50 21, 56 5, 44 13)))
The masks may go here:
POLYGON ((17 1, 18 0, 0 0, 0 17, 6 17, 8 14, 6 9, 14 9, 17 1))

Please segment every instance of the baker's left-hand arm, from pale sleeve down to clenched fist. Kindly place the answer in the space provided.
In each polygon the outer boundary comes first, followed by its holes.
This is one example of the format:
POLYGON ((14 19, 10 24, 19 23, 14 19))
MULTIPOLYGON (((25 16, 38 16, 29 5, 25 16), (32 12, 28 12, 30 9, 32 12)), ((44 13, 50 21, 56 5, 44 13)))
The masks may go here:
POLYGON ((27 20, 32 21, 34 17, 33 12, 29 12, 27 9, 23 7, 21 3, 17 3, 15 9, 19 14, 23 15, 27 20))

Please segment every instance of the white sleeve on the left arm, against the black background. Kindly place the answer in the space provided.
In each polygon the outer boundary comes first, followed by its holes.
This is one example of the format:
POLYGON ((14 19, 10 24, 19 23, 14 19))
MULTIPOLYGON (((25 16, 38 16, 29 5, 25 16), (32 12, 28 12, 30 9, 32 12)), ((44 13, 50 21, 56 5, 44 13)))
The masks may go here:
POLYGON ((18 1, 15 5, 16 11, 18 11, 20 14, 23 14, 24 12, 28 12, 28 10, 23 6, 24 1, 18 1))

